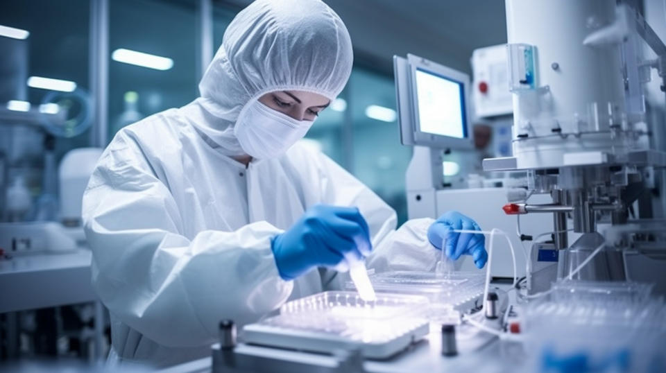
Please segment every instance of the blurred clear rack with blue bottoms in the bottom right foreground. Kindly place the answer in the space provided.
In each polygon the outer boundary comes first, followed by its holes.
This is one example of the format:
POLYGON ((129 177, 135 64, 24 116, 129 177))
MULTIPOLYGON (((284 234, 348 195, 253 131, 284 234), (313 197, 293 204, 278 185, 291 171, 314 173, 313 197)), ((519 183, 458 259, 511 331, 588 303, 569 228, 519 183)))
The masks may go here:
POLYGON ((666 304, 650 284, 561 281, 525 309, 527 356, 535 369, 664 372, 666 304), (569 366, 569 365, 567 365, 569 366))

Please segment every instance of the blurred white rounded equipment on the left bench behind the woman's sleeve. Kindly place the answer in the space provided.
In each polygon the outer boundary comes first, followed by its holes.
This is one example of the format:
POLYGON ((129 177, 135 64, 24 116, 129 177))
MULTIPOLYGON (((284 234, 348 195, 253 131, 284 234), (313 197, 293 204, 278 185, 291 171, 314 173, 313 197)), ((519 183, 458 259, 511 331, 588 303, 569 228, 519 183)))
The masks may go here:
POLYGON ((60 162, 60 218, 65 225, 78 225, 81 218, 83 191, 102 155, 100 148, 70 150, 60 162))

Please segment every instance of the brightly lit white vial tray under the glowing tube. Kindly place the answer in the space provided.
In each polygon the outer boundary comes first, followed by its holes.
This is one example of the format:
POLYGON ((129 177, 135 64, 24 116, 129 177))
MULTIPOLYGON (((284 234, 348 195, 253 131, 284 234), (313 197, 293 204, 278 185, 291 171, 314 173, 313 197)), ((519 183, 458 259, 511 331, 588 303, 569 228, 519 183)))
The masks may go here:
POLYGON ((244 327, 247 343, 311 352, 358 345, 367 358, 388 358, 429 331, 425 297, 377 294, 366 302, 356 292, 327 291, 294 300, 280 315, 244 327))

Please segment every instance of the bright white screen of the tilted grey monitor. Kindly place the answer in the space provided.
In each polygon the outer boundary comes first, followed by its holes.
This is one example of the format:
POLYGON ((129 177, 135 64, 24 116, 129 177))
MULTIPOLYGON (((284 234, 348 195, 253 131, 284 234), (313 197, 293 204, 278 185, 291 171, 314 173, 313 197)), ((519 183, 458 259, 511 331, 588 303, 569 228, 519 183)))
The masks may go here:
POLYGON ((463 83, 416 69, 416 96, 420 132, 468 137, 463 83))

